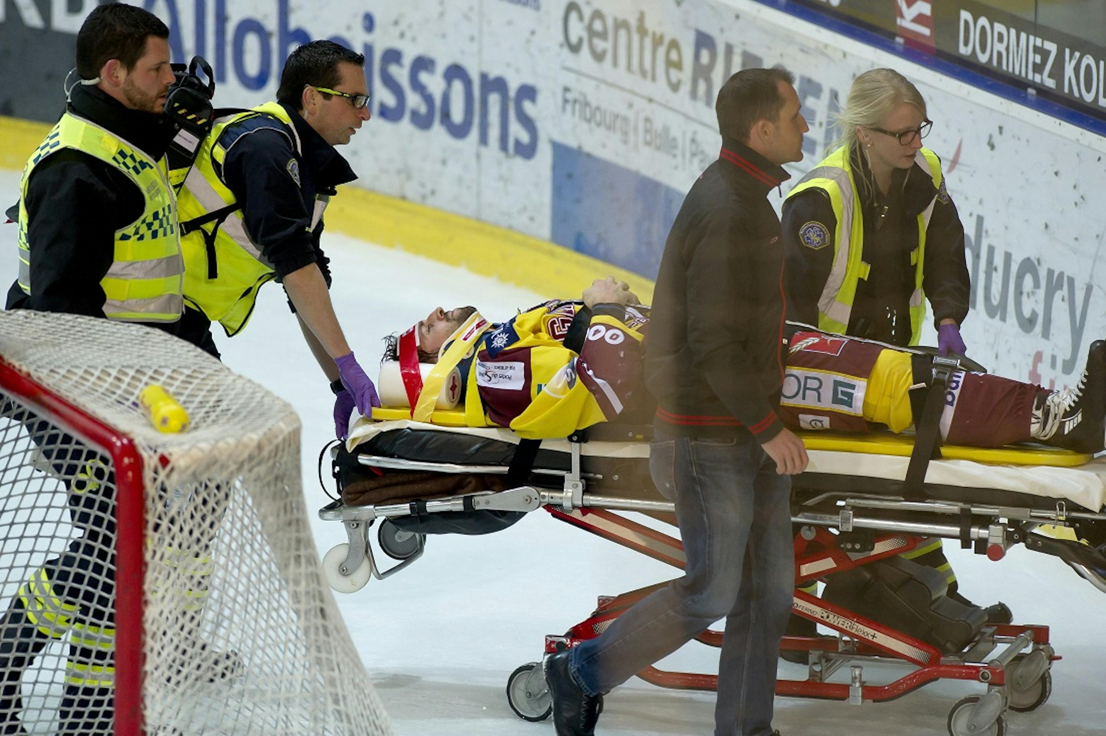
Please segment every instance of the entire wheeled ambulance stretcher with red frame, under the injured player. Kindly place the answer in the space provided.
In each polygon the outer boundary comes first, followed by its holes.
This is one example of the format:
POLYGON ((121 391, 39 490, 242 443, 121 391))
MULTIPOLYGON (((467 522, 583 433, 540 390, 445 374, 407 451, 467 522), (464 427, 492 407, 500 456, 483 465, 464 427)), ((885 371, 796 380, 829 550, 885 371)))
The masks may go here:
MULTIPOLYGON (((373 421, 361 421, 346 446, 332 453, 343 498, 319 514, 342 522, 348 537, 323 561, 335 590, 354 592, 373 577, 384 579, 408 567, 422 554, 428 535, 488 533, 540 508, 684 567, 674 505, 649 477, 648 427, 596 425, 539 445, 520 440, 509 429, 467 427, 463 412, 434 412, 431 423, 409 417, 407 408, 376 410, 373 421), (627 512, 647 515, 654 522, 641 524, 627 512), (389 569, 378 566, 369 542, 376 520, 380 549, 398 560, 389 569)), ((921 433, 917 438, 831 433, 802 437, 811 462, 793 483, 796 585, 894 562, 896 556, 940 537, 959 540, 994 561, 1011 546, 1024 545, 1058 557, 1106 592, 1106 456, 1094 459, 1036 446, 938 450, 939 442, 924 440, 921 433), (938 453, 940 457, 931 459, 938 453), (1042 527, 1052 532, 1042 533, 1042 527), (1056 529, 1067 533, 1056 535, 1056 529)), ((587 619, 563 635, 545 637, 545 652, 597 636, 657 587, 601 595, 587 619)), ((808 666, 805 680, 780 680, 779 694, 859 704, 891 699, 936 680, 985 685, 982 695, 966 697, 950 709, 947 725, 952 736, 1004 734, 1009 709, 1032 711, 1048 698, 1050 667, 1060 659, 1050 645, 1048 628, 1042 625, 966 619, 954 622, 959 639, 938 646, 799 590, 793 611, 837 635, 784 637, 781 649, 806 652, 808 666), (910 665, 910 671, 888 684, 867 683, 864 666, 887 661, 910 665), (845 666, 847 683, 834 681, 845 666)), ((722 634, 706 631, 697 639, 720 646, 722 634)), ((639 676, 664 687, 717 685, 714 675, 651 666, 639 676)), ((542 721, 550 715, 540 663, 515 670, 507 693, 520 717, 542 721)))

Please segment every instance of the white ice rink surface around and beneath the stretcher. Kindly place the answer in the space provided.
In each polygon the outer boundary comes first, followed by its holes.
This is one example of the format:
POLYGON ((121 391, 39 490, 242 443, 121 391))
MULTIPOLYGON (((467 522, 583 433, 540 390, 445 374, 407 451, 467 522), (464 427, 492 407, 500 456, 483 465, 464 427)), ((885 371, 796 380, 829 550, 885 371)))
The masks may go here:
MULTIPOLYGON (((18 198, 19 174, 0 170, 0 204, 18 198)), ((499 321, 546 297, 442 266, 400 250, 345 236, 323 237, 334 273, 332 296, 358 361, 369 375, 380 338, 406 329, 434 307, 474 304, 499 321)), ((0 227, 0 283, 15 274, 15 227, 0 227)), ((605 276, 605 274, 596 274, 605 276)), ((586 284, 580 284, 583 289, 586 284)), ((577 292, 578 294, 578 292, 577 292)), ((316 458, 333 437, 333 396, 300 336, 276 286, 262 297, 247 330, 216 341, 223 361, 291 402, 303 421, 305 512, 323 554, 345 541, 337 522, 319 520, 328 499, 316 458)), ((333 488, 328 483, 328 487, 333 488)), ((375 543, 375 533, 374 533, 375 543)), ((1106 597, 1056 558, 1014 548, 999 563, 946 543, 961 591, 980 604, 1005 601, 1015 620, 1052 626, 1063 660, 1053 666, 1053 695, 1033 713, 1011 713, 1010 736, 1106 734, 1106 597)), ((617 594, 676 577, 677 571, 554 520, 544 511, 483 537, 435 537, 409 570, 372 580, 357 593, 335 594, 395 732, 401 736, 552 736, 553 727, 526 723, 504 696, 508 675, 541 657, 543 636, 563 633, 587 616, 596 595, 617 594)), ((692 643, 659 666, 714 672, 717 651, 692 643)), ((905 668, 865 668, 873 684, 905 668)), ((805 667, 781 664, 781 676, 805 667)), ((847 681, 847 670, 838 673, 847 681)), ((930 736, 961 697, 982 694, 975 683, 942 682, 897 701, 847 703, 781 697, 783 736, 930 736)), ((686 736, 713 732, 713 693, 665 691, 637 678, 606 698, 597 733, 686 736)))

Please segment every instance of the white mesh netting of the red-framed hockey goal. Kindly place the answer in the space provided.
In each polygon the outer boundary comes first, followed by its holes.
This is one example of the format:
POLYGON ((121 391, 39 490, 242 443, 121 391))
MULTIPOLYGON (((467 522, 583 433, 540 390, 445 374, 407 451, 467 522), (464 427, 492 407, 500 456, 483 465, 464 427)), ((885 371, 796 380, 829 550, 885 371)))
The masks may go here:
MULTIPOLYGON (((147 733, 390 733, 320 572, 286 403, 106 320, 0 312, 0 357, 142 456, 147 733), (186 431, 153 427, 150 384, 186 431)), ((0 734, 113 733, 116 630, 137 622, 114 615, 111 449, 0 384, 0 734)))

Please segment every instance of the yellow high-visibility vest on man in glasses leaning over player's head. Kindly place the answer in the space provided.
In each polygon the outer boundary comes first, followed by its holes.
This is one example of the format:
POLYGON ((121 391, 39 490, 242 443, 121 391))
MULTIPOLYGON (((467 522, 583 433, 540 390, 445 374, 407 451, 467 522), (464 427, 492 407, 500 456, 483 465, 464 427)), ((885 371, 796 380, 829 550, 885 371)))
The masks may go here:
MULTIPOLYGON (((201 144, 178 196, 182 224, 201 221, 201 218, 225 210, 217 219, 186 232, 181 248, 186 266, 185 300, 202 310, 208 319, 221 323, 229 336, 246 326, 258 291, 276 276, 272 263, 246 231, 242 210, 222 179, 227 153, 242 137, 262 129, 281 133, 288 137, 298 157, 302 153, 292 118, 275 102, 221 117, 201 144), (237 136, 225 135, 236 133, 233 126, 249 121, 254 122, 253 129, 237 131, 237 136)), ((322 221, 326 200, 326 196, 316 197, 311 231, 322 221)))

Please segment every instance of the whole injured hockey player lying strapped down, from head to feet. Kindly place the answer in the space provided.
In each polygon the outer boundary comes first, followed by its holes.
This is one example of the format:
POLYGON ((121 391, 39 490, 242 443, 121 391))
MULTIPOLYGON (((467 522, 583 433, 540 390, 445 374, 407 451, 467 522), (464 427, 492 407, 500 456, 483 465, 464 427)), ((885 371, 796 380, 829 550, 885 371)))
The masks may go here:
MULTIPOLYGON (((596 280, 582 301, 549 301, 500 324, 489 324, 472 307, 438 308, 389 338, 385 359, 437 363, 452 353, 465 376, 461 395, 474 384, 490 424, 524 437, 563 437, 648 404, 639 361, 649 309, 636 302, 625 283, 608 278, 596 280)), ((806 325, 789 323, 787 333, 778 411, 790 427, 866 433, 912 426, 931 375, 930 355, 806 325)), ((417 400, 411 396, 409 405, 417 400)), ((1037 442, 1097 453, 1106 436, 1104 414, 1106 342, 1097 341, 1078 384, 1061 391, 956 371, 940 433, 952 445, 1037 442)))

